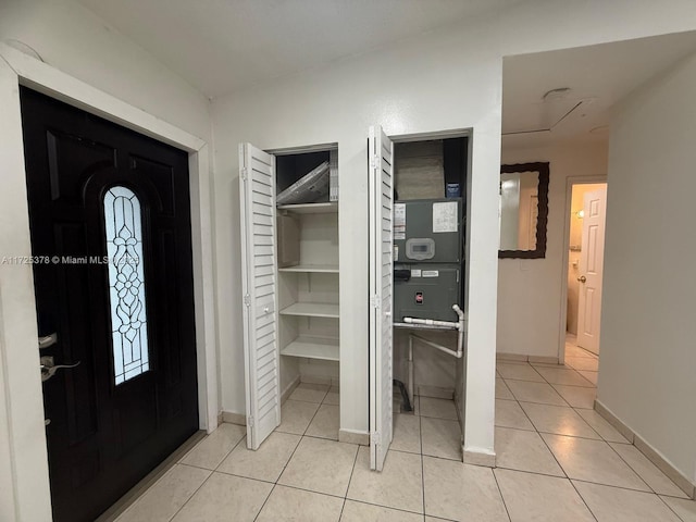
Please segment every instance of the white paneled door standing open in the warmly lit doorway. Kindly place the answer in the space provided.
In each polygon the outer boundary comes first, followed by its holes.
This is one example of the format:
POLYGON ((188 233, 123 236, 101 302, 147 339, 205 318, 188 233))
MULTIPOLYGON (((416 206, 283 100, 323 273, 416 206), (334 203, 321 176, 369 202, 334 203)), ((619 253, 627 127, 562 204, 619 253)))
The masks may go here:
POLYGON ((599 353, 601 274, 605 260, 607 189, 586 192, 583 204, 583 239, 580 257, 577 346, 599 353))

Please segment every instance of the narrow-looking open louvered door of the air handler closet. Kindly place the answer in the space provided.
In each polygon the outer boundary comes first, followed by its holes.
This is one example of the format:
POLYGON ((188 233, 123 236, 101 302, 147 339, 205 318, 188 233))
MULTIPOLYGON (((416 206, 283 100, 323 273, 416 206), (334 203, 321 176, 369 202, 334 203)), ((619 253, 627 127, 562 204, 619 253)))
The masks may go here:
POLYGON ((391 140, 370 127, 370 468, 382 471, 391 444, 391 140))

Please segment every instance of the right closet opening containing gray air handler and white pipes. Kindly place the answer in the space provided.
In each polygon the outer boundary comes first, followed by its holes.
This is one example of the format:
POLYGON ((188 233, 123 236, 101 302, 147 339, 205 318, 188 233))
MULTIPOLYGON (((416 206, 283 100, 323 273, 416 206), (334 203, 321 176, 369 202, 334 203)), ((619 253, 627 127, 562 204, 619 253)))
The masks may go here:
POLYGON ((415 432, 423 453, 456 460, 462 459, 469 167, 464 132, 394 138, 391 447, 407 444, 400 432, 415 432))

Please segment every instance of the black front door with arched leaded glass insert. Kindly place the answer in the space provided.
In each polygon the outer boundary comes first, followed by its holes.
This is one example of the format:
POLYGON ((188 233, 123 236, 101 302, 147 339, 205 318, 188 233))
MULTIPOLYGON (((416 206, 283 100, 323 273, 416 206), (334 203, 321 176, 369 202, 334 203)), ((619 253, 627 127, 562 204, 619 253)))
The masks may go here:
POLYGON ((198 430, 188 156, 21 99, 39 355, 79 363, 44 382, 53 517, 87 521, 198 430))

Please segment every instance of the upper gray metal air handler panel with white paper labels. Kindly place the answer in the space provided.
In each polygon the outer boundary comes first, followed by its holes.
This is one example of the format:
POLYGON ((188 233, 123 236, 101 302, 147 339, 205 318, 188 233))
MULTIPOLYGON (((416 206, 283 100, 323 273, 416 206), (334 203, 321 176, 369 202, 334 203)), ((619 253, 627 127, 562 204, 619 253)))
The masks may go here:
MULTIPOLYGON (((398 201, 395 203, 394 214, 394 245, 395 261, 399 263, 419 262, 419 263, 459 263, 462 258, 462 200, 461 198, 442 198, 398 201), (443 204, 444 203, 444 204, 443 204), (399 228, 399 209, 402 204, 406 215, 406 224, 399 228), (435 208, 433 207, 435 204, 435 208), (439 216, 447 216, 449 210, 448 204, 456 204, 456 213, 449 219, 437 221, 439 216), (435 214, 436 222, 433 216, 435 214), (452 226, 455 227, 452 229, 452 226), (446 229, 452 232, 438 232, 446 229), (432 239, 434 241, 435 252, 430 259, 409 259, 407 241, 409 239, 432 239)), ((411 241, 412 243, 412 241, 411 241)))

